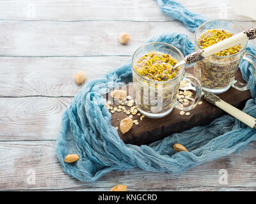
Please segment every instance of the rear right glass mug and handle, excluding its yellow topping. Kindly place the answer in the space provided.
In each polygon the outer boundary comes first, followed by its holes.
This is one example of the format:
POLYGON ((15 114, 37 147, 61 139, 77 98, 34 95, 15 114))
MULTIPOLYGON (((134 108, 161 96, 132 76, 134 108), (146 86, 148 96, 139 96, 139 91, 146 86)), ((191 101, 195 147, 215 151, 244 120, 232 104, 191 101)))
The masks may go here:
MULTIPOLYGON (((240 33, 244 30, 242 27, 229 20, 210 20, 205 22, 196 29, 195 50, 200 49, 200 46, 198 45, 198 38, 200 38, 205 31, 211 29, 224 29, 225 31, 229 31, 234 34, 240 33)), ((241 50, 234 55, 211 55, 209 57, 205 57, 201 61, 195 62, 194 75, 198 80, 200 80, 202 88, 205 91, 220 94, 227 91, 230 87, 234 87, 239 91, 244 91, 255 84, 255 82, 244 84, 236 80, 235 75, 239 68, 239 62, 241 59, 245 59, 253 65, 253 75, 256 79, 256 65, 250 58, 248 58, 248 56, 254 59, 256 58, 246 52, 245 48, 247 41, 241 45, 241 50)))

